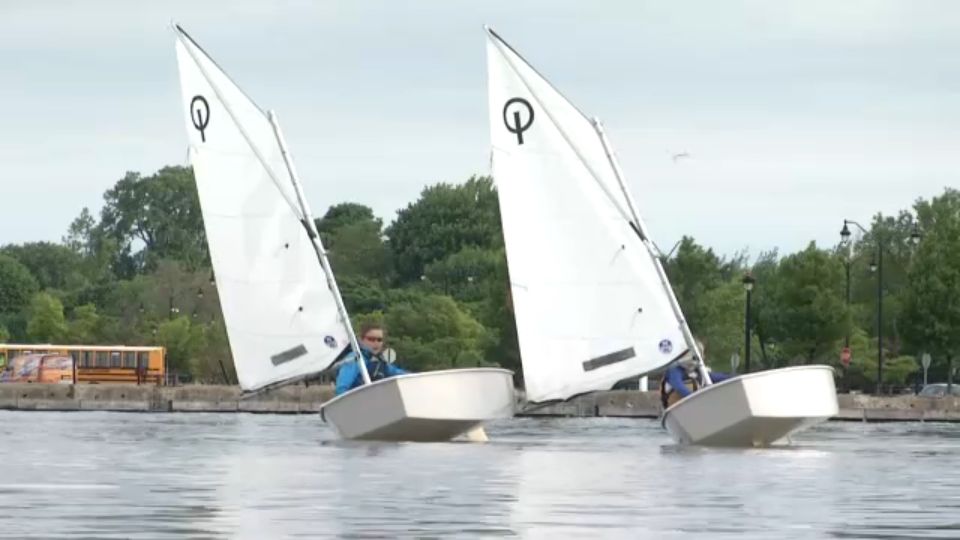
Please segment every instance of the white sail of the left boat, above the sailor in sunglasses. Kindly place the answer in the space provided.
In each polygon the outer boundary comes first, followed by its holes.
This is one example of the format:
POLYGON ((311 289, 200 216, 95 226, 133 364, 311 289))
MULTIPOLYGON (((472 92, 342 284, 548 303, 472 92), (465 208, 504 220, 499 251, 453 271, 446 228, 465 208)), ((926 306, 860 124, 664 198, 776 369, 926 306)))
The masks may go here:
POLYGON ((328 368, 349 344, 266 114, 175 28, 183 112, 241 388, 328 368))

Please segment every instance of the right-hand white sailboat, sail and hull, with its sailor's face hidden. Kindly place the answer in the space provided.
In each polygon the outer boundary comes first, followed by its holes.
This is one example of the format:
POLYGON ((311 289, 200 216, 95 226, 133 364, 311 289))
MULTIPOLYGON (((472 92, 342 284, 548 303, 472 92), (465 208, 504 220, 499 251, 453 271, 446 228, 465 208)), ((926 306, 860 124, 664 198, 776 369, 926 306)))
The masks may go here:
MULTIPOLYGON (((702 358, 599 120, 486 33, 492 172, 527 400, 702 358)), ((678 442, 763 445, 837 413, 827 366, 715 385, 702 360, 698 369, 707 386, 662 416, 678 442)))

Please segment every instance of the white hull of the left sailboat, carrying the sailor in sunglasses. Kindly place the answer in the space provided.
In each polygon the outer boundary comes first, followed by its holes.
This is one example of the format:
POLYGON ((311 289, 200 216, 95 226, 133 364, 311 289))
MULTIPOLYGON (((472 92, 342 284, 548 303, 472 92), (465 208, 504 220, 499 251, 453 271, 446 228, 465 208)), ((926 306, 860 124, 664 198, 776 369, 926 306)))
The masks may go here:
POLYGON ((343 439, 439 442, 509 418, 515 404, 511 371, 450 369, 354 388, 323 404, 320 414, 343 439))

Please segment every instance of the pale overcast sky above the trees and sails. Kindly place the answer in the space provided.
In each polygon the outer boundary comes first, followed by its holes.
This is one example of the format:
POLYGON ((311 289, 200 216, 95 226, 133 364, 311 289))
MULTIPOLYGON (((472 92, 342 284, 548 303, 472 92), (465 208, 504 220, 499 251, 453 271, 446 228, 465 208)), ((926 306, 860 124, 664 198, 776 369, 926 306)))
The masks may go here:
POLYGON ((604 121, 664 250, 832 245, 960 185, 958 2, 4 0, 0 245, 186 164, 171 20, 277 111, 318 215, 488 173, 483 24, 604 121))

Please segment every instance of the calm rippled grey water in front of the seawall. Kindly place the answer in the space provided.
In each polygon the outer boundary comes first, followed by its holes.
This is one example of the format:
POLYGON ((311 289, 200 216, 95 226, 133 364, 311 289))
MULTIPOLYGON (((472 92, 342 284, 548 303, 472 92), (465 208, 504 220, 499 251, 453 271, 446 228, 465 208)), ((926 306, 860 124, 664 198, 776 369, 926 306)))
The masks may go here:
POLYGON ((776 450, 652 420, 344 443, 317 416, 0 412, 4 538, 958 538, 960 426, 828 423, 776 450))

